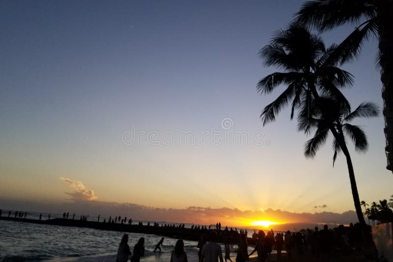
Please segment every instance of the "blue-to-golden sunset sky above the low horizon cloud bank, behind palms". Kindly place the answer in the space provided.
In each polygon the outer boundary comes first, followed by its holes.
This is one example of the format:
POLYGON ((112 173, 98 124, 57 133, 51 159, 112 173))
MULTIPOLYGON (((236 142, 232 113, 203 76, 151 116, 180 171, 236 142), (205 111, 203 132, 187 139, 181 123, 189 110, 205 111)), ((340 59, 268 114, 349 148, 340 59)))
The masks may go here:
MULTIPOLYGON (((283 89, 257 94, 277 70, 258 51, 301 3, 1 1, 0 203, 354 210, 331 140, 307 159, 288 110, 265 127, 259 118, 283 89)), ((371 39, 343 66, 353 108, 382 107, 376 49, 371 39)), ((363 155, 349 146, 360 198, 389 198, 383 117, 354 123, 369 139, 363 155)))

